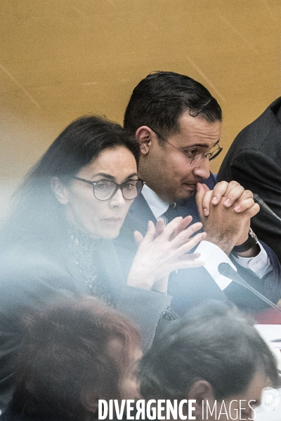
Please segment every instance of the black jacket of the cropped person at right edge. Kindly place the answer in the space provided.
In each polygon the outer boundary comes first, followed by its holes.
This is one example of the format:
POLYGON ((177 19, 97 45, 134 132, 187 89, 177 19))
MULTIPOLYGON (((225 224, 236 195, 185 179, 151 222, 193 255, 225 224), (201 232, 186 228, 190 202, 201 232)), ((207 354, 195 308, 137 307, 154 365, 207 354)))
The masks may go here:
MULTIPOLYGON (((259 194, 281 218, 281 97, 237 135, 218 172, 221 180, 259 194)), ((281 222, 261 210, 251 227, 281 262, 281 222)))

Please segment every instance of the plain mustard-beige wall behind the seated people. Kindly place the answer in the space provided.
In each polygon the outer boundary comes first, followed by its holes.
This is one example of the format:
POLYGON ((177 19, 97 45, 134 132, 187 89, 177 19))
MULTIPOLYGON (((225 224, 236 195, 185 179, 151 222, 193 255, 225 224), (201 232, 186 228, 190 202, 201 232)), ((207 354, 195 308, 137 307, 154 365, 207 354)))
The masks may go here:
POLYGON ((209 88, 223 108, 224 152, 280 96, 280 0, 1 0, 0 18, 0 216, 70 121, 122 123, 149 72, 209 88))

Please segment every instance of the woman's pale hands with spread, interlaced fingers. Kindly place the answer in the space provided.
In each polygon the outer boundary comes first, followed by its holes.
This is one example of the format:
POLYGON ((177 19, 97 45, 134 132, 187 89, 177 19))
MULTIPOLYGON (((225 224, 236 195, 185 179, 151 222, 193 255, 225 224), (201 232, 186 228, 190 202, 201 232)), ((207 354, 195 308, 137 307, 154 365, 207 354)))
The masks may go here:
POLYGON ((185 229, 191 220, 191 216, 178 217, 166 227, 163 220, 159 220, 156 226, 149 221, 144 237, 140 232, 134 233, 139 246, 127 285, 165 293, 170 272, 204 265, 204 262, 196 260, 200 253, 186 254, 206 237, 205 232, 192 236, 202 228, 201 222, 185 229))

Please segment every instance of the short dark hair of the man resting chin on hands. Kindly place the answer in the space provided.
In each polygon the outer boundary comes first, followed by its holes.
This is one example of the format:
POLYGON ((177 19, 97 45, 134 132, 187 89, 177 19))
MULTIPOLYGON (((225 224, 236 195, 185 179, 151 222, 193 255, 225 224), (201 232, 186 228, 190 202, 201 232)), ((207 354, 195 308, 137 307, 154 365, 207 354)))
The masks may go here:
POLYGON ((221 107, 201 83, 184 74, 155 72, 134 88, 124 116, 124 127, 136 133, 148 126, 162 136, 179 131, 178 119, 188 111, 209 122, 221 121, 221 107))

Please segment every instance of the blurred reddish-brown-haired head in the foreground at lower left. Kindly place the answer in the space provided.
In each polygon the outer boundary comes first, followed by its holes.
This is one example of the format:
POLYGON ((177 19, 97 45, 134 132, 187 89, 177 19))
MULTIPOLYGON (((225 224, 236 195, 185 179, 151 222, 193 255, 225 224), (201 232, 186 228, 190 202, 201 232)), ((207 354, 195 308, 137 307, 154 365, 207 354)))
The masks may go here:
POLYGON ((67 300, 23 325, 13 413, 88 421, 98 399, 138 399, 138 332, 103 302, 67 300))

